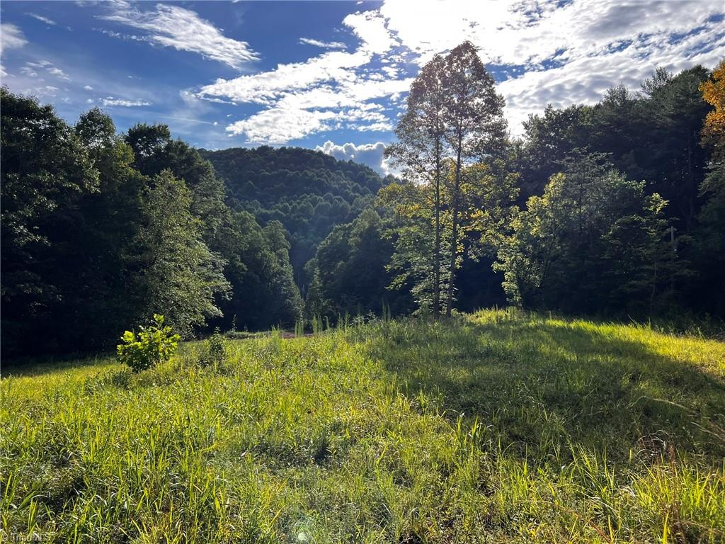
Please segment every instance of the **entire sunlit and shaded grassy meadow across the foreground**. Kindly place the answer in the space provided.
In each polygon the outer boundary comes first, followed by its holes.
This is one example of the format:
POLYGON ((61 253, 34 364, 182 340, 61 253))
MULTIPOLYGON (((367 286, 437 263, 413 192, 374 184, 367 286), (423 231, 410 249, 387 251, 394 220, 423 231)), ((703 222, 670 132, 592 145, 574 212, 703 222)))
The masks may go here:
POLYGON ((725 542, 723 342, 482 311, 233 341, 210 367, 199 350, 138 375, 102 358, 11 371, 2 531, 725 542))

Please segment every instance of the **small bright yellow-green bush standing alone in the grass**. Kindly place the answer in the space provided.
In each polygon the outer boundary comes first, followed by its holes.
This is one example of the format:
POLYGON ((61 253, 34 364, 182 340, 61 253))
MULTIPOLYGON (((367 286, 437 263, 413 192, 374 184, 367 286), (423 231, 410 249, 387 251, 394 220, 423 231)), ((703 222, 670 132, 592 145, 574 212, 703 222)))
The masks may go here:
POLYGON ((116 347, 118 360, 130 366, 134 372, 169 360, 181 339, 178 334, 172 334, 170 326, 164 326, 164 316, 157 313, 154 313, 152 325, 139 328, 138 338, 136 333, 125 331, 121 337, 124 343, 116 347))

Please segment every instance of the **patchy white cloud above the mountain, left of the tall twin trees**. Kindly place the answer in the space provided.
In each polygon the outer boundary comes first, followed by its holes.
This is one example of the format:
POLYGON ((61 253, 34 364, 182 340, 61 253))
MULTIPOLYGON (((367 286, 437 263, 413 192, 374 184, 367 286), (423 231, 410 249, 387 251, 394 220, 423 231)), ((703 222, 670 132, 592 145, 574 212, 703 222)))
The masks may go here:
POLYGON ((389 131, 384 105, 373 101, 399 96, 410 79, 386 80, 368 65, 389 52, 396 38, 376 11, 349 15, 343 24, 360 41, 355 51, 326 51, 305 62, 219 79, 203 86, 199 96, 262 105, 260 112, 226 128, 254 143, 284 144, 339 128, 389 131))

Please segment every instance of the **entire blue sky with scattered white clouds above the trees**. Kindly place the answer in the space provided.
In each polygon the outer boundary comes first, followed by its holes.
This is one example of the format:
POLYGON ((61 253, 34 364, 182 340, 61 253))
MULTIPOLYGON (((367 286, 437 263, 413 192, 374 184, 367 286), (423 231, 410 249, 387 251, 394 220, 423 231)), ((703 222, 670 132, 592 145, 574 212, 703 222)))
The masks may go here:
POLYGON ((410 83, 468 39, 513 136, 655 67, 725 57, 725 0, 3 1, 1 83, 75 123, 165 123, 196 147, 302 146, 381 173, 410 83))

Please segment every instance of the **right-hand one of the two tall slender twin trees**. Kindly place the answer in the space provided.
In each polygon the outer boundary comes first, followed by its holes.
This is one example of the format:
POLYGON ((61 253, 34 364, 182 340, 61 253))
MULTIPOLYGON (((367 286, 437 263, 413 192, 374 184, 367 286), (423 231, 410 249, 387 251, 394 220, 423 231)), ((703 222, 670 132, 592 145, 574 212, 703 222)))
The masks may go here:
POLYGON ((497 157, 505 150, 504 100, 496 93, 494 80, 486 71, 476 47, 469 41, 455 47, 445 58, 444 131, 455 160, 451 191, 451 237, 448 267, 446 315, 451 316, 461 207, 460 186, 464 163, 482 157, 497 157))

